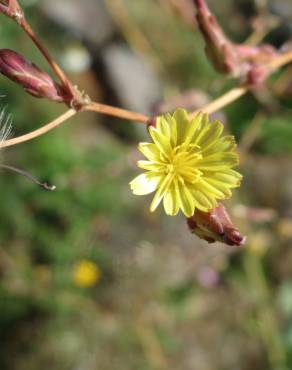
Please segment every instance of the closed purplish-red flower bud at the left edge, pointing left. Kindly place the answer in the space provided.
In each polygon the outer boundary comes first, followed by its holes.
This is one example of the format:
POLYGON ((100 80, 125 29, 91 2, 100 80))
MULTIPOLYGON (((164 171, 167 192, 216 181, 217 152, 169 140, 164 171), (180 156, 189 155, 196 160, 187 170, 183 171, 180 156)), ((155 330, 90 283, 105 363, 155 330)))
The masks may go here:
POLYGON ((0 49, 0 72, 21 85, 30 95, 56 102, 68 102, 67 94, 58 83, 13 50, 0 49))

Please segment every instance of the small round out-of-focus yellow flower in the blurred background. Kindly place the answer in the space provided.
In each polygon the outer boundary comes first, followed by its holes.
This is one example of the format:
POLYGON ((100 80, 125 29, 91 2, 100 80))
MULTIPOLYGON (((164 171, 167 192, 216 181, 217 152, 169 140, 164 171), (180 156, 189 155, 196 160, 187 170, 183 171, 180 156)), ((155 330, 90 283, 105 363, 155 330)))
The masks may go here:
POLYGON ((73 270, 74 283, 81 288, 94 286, 101 278, 101 270, 96 263, 89 260, 81 260, 73 270))

